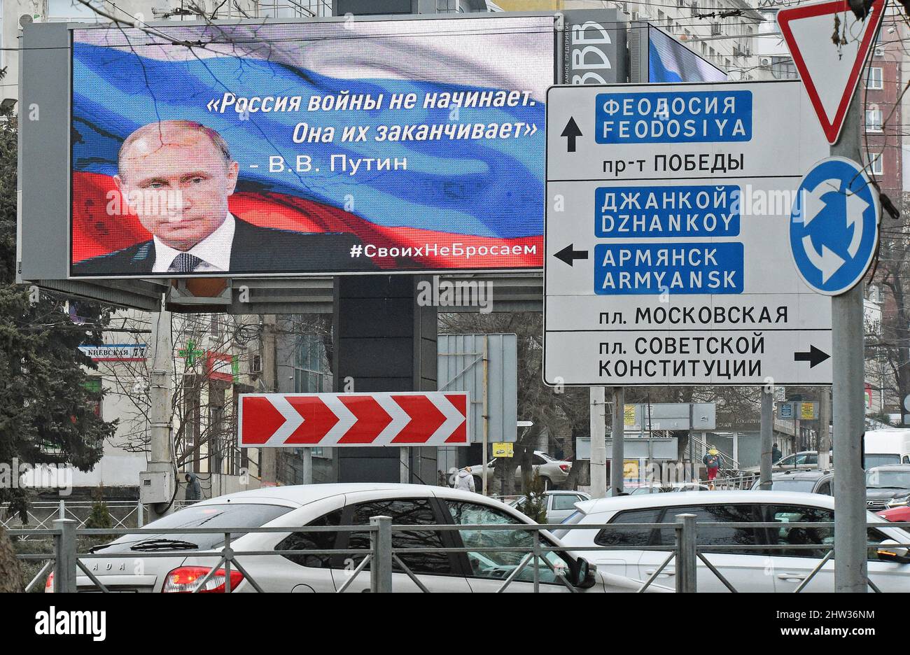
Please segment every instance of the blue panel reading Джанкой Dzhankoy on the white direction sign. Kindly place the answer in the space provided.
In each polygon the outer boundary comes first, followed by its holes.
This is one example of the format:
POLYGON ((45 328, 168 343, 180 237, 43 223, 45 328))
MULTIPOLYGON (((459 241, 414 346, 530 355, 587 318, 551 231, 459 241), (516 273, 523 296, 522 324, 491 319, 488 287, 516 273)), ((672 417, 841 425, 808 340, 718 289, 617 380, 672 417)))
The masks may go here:
POLYGON ((594 236, 736 237, 739 185, 600 186, 594 236))

